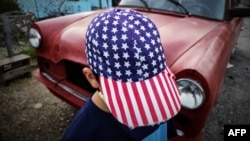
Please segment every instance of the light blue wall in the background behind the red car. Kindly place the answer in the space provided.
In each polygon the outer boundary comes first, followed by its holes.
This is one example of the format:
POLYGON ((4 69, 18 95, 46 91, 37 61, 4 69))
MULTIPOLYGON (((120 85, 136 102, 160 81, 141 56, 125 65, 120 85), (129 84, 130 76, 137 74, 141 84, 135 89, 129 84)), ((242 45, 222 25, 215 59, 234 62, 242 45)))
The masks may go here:
MULTIPOLYGON (((25 12, 35 13, 37 18, 64 14, 73 14, 78 12, 90 11, 91 8, 99 7, 99 0, 17 0, 19 7, 25 12), (62 3, 60 7, 60 3, 62 3), (59 9, 60 7, 60 9, 59 9)), ((101 0, 102 8, 111 7, 112 0, 101 0)))

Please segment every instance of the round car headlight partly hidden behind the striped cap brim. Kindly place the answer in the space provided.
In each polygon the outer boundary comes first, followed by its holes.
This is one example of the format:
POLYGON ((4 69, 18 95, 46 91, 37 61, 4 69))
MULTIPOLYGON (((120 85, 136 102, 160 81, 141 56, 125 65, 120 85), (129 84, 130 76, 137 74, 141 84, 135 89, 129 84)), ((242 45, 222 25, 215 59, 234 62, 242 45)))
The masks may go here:
POLYGON ((178 79, 177 85, 183 107, 196 109, 203 104, 205 94, 199 83, 191 79, 178 79))

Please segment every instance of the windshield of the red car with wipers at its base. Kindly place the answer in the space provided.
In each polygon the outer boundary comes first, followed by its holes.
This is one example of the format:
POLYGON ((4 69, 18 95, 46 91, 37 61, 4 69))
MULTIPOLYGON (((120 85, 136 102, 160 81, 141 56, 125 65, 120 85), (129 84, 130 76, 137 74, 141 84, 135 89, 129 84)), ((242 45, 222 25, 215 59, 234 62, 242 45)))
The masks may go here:
POLYGON ((226 0, 121 0, 119 3, 120 6, 145 7, 216 20, 223 20, 225 4, 226 0))

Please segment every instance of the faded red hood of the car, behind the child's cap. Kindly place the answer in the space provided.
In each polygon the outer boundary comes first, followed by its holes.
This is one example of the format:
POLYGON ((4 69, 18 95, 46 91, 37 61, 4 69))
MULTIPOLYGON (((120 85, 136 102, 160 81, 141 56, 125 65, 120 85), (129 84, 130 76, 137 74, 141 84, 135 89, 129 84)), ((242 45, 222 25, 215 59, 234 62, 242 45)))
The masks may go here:
MULTIPOLYGON (((96 14, 97 12, 92 13, 66 26, 53 38, 53 41, 49 42, 53 53, 44 57, 49 57, 54 62, 66 59, 86 64, 84 37, 88 24, 96 14)), ((216 32, 213 30, 220 23, 189 16, 148 12, 143 14, 158 27, 168 65, 172 65, 179 56, 205 38, 207 34, 216 32)))

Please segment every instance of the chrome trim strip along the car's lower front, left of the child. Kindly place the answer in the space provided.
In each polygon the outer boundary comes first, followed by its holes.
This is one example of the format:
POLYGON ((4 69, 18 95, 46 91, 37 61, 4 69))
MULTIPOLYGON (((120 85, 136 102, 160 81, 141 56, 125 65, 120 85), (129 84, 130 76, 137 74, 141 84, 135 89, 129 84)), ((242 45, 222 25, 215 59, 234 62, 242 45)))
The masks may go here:
POLYGON ((60 81, 54 79, 51 75, 49 75, 46 72, 41 72, 41 74, 46 77, 49 81, 51 81, 52 83, 58 85, 60 88, 64 89, 65 91, 67 91, 68 93, 70 93, 71 95, 83 100, 83 101, 87 101, 88 97, 83 96, 81 93, 69 88, 68 86, 64 85, 63 83, 61 83, 60 81))

